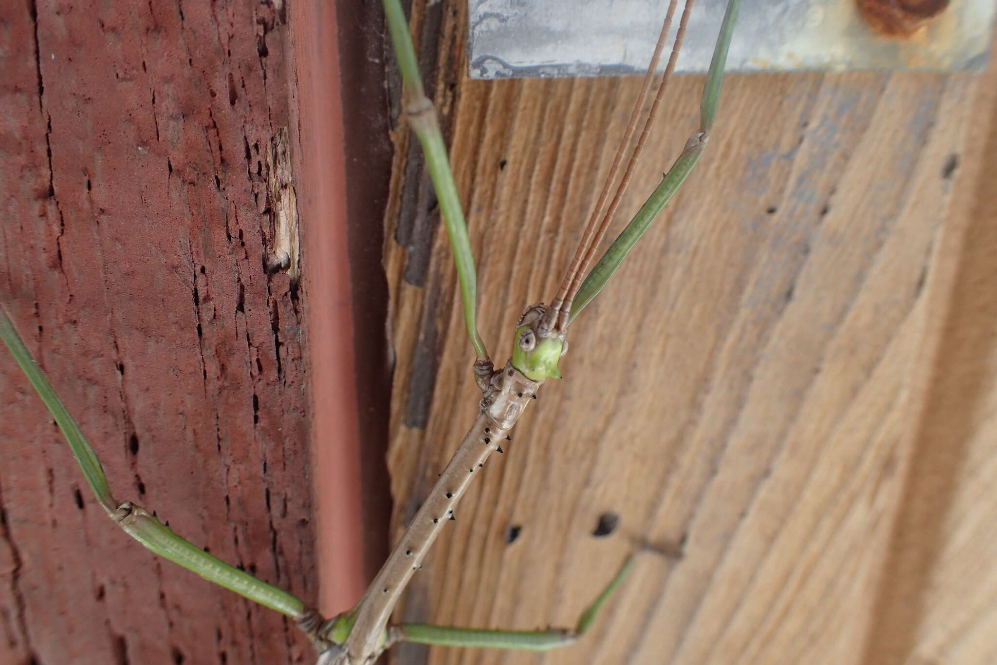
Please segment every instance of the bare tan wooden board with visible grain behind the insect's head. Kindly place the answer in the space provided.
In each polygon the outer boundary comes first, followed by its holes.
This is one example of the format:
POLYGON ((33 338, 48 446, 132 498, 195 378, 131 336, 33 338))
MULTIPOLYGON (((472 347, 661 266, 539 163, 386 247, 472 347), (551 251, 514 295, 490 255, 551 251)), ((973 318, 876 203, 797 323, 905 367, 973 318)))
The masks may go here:
MULTIPOLYGON (((502 362, 520 310, 556 287, 639 81, 468 81, 456 74, 461 4, 414 3, 413 30, 469 211, 480 326, 502 362)), ((398 616, 573 625, 623 557, 642 550, 632 578, 568 649, 403 645, 395 662, 836 665, 875 648, 865 639, 882 611, 880 572, 890 547, 902 547, 890 534, 910 518, 899 499, 915 492, 906 474, 916 476, 912 451, 926 445, 910 435, 912 409, 929 409, 914 399, 914 378, 933 362, 932 317, 960 260, 939 247, 965 228, 966 208, 953 201, 972 171, 972 121, 993 113, 984 101, 973 115, 975 92, 997 80, 987 76, 730 77, 703 162, 577 319, 565 379, 544 387, 509 454, 458 506, 398 616), (618 526, 593 535, 608 513, 618 526)), ((702 82, 674 81, 632 191, 649 191, 697 129, 702 82)), ((473 422, 478 395, 435 201, 404 127, 395 140, 386 269, 397 536, 473 422)), ((631 196, 621 218, 639 203, 631 196)), ((972 390, 983 409, 978 396, 989 393, 972 390)), ((970 448, 954 453, 959 465, 970 448)), ((974 453, 981 464, 987 451, 974 453)), ((944 507, 975 505, 986 482, 944 507)), ((951 546, 960 534, 972 540, 980 518, 946 517, 951 546)), ((980 542, 952 555, 982 566, 980 542)), ((954 571, 932 574, 943 582, 954 571)), ((918 620, 947 606, 940 596, 957 602, 935 579, 922 593, 935 604, 918 620)), ((991 662, 980 646, 992 634, 991 588, 963 611, 965 636, 925 623, 900 646, 951 644, 959 657, 938 662, 991 662)))

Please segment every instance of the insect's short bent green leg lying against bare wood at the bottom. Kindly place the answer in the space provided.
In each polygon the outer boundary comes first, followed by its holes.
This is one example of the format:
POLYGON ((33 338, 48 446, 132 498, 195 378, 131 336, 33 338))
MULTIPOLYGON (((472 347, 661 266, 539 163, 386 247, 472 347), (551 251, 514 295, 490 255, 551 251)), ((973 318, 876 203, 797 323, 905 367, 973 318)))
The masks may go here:
POLYGON ((443 646, 477 647, 480 649, 519 649, 526 651, 546 651, 567 646, 576 642, 588 631, 599 610, 609 596, 619 588, 633 564, 633 557, 627 557, 619 571, 606 588, 578 617, 574 628, 548 628, 546 630, 477 630, 474 628, 453 628, 432 626, 425 623, 403 623, 388 628, 388 643, 418 642, 443 646))

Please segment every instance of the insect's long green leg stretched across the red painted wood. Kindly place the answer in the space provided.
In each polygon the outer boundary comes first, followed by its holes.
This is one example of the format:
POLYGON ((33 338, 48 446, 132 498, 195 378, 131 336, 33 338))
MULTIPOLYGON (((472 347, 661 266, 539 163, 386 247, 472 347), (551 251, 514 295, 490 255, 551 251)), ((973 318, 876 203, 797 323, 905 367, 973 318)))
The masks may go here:
POLYGON ((108 479, 104 476, 97 454, 70 416, 62 400, 52 389, 52 385, 38 369, 24 342, 21 341, 7 313, 0 309, 0 339, 20 366, 28 381, 42 398, 49 413, 62 430, 73 457, 80 465, 87 484, 100 502, 105 512, 129 535, 145 545, 154 554, 159 554, 173 563, 183 566, 210 582, 258 602, 270 609, 286 614, 299 622, 312 618, 312 610, 290 593, 260 581, 252 575, 234 568, 211 556, 204 550, 179 537, 169 527, 160 522, 156 515, 141 505, 130 501, 118 504, 111 494, 108 479))

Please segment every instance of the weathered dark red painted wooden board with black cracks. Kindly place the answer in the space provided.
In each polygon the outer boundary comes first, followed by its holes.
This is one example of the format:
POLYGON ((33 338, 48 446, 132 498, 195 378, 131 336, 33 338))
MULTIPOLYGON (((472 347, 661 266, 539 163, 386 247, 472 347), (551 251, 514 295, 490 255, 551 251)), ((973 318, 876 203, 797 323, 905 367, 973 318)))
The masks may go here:
MULTIPOLYGON (((272 4, 3 3, 0 304, 119 499, 313 600, 300 303, 263 269, 288 60, 272 4)), ((107 518, 5 351, 0 442, 0 662, 310 659, 107 518)))

